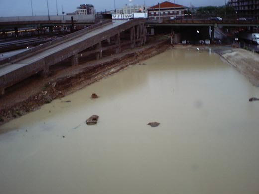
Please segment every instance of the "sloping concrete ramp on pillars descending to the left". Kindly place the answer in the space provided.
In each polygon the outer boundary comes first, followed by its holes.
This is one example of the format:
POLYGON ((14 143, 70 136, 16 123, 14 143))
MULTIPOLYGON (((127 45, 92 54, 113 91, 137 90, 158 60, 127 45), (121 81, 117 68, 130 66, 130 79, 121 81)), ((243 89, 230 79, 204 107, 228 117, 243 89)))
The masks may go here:
POLYGON ((102 58, 102 52, 115 49, 121 52, 123 45, 131 48, 146 42, 146 24, 144 19, 113 21, 107 20, 55 41, 34 47, 25 52, 0 61, 0 94, 36 73, 46 76, 49 67, 65 59, 71 65, 78 65, 79 57, 95 54, 102 58), (121 41, 121 33, 128 32, 128 40, 121 41), (107 47, 103 42, 107 41, 107 47))

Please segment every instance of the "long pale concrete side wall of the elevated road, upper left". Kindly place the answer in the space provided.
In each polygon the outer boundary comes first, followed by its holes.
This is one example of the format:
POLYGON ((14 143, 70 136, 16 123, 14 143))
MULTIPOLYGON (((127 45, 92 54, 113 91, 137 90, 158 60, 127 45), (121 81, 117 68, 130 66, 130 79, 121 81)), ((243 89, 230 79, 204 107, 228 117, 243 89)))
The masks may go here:
MULTIPOLYGON (((95 15, 64 15, 64 20, 71 20, 73 16, 74 20, 94 20, 95 15)), ((0 22, 22 22, 22 21, 48 21, 49 17, 44 16, 18 16, 18 17, 0 17, 0 22)), ((50 20, 59 21, 63 20, 62 15, 51 15, 50 20)))

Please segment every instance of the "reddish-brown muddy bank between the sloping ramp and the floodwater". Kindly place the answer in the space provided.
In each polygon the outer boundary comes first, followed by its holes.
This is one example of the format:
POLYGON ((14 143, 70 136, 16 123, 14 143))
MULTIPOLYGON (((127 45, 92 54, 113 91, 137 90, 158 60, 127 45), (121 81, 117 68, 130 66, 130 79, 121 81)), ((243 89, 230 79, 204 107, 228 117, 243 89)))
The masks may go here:
POLYGON ((129 65, 160 54, 168 47, 168 40, 150 41, 143 47, 128 49, 100 60, 81 60, 75 67, 70 66, 69 62, 54 65, 47 78, 35 75, 7 88, 6 94, 0 97, 0 125, 35 111, 43 104, 71 94, 129 65))

